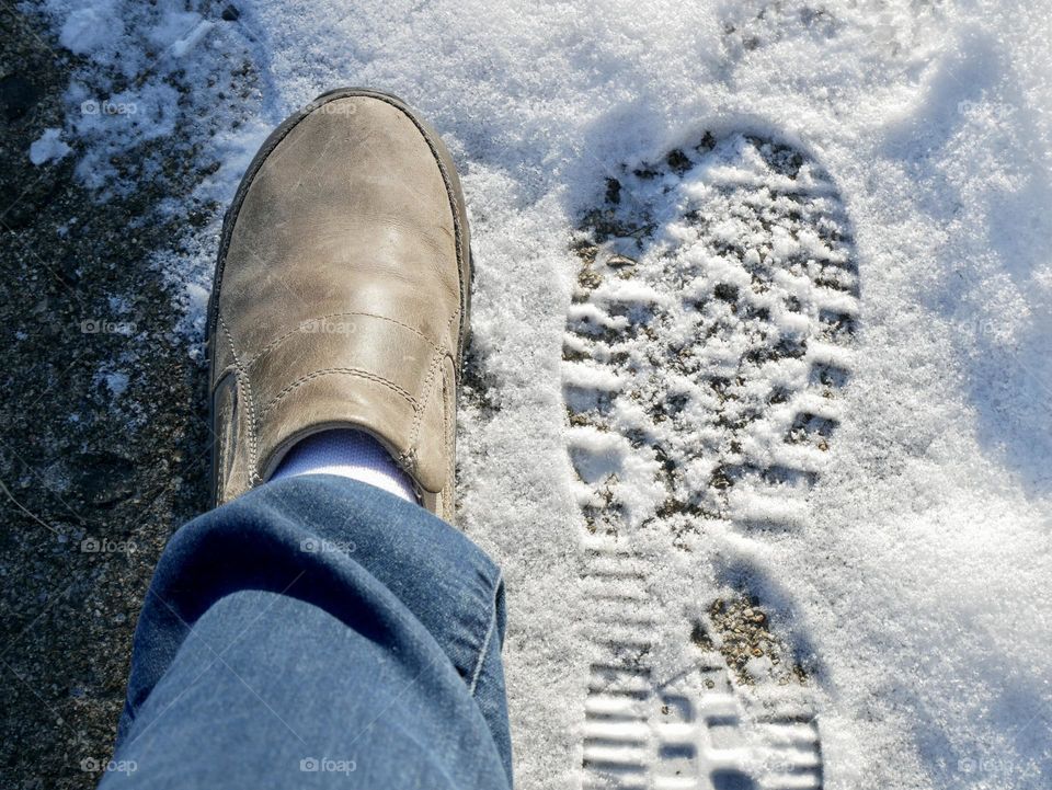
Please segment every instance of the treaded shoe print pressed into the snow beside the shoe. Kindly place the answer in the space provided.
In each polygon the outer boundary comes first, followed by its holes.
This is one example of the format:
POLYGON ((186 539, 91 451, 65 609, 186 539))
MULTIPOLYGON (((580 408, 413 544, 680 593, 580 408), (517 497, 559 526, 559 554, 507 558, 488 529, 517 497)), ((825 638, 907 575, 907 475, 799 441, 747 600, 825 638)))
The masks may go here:
POLYGON ((603 656, 584 787, 821 787, 807 673, 747 591, 695 597, 691 552, 807 522, 859 313, 836 187, 791 147, 706 135, 608 179, 574 247, 567 444, 603 656))

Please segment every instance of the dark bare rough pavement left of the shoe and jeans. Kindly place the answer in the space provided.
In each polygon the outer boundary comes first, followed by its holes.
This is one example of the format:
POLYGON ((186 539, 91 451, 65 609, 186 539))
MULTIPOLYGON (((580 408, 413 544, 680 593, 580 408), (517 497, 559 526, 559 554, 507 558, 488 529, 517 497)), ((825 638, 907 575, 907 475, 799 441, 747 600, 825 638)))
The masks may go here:
POLYGON ((207 496, 205 371, 150 263, 184 225, 158 219, 158 201, 198 176, 172 157, 165 178, 100 203, 73 179, 76 144, 34 167, 77 61, 13 9, 0 4, 0 787, 92 788, 157 557, 207 496))

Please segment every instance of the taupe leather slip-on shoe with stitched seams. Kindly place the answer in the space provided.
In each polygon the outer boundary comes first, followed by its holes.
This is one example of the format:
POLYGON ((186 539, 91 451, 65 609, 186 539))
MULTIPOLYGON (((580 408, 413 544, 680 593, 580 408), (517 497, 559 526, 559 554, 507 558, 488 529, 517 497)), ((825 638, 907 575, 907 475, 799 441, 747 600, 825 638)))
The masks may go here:
POLYGON ((375 436, 454 518, 471 262, 442 140, 400 100, 340 89, 263 144, 227 213, 208 310, 222 504, 298 440, 375 436))

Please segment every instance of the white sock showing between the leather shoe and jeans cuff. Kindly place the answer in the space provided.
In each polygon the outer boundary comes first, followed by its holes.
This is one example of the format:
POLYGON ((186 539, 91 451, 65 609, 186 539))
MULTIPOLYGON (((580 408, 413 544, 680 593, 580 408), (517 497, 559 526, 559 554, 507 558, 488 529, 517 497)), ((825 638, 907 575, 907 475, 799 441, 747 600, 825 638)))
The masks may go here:
POLYGON ((271 480, 296 474, 340 474, 418 504, 413 483, 384 445, 363 431, 333 428, 293 445, 271 480))

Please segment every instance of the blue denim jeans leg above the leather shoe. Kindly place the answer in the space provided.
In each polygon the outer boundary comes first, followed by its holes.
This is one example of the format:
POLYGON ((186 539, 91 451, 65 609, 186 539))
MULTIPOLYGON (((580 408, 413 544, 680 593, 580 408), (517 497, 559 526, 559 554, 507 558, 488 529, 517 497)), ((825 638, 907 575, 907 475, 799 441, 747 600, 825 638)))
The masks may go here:
POLYGON ((102 788, 511 788, 500 570, 344 478, 267 483, 158 564, 102 788))

